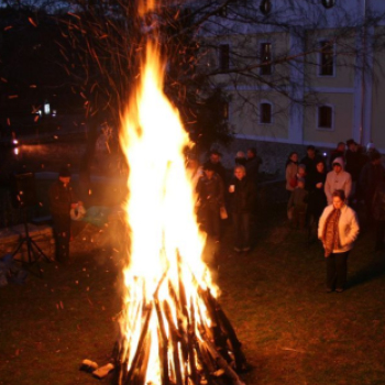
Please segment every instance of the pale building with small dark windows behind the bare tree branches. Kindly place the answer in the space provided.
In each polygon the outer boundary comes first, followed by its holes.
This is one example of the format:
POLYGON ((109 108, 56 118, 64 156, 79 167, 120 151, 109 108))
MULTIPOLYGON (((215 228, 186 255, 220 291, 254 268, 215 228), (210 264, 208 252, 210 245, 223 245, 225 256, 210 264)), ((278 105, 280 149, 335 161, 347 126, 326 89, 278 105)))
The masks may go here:
POLYGON ((385 1, 239 3, 199 31, 200 68, 229 95, 234 135, 323 148, 354 139, 384 153, 385 1))

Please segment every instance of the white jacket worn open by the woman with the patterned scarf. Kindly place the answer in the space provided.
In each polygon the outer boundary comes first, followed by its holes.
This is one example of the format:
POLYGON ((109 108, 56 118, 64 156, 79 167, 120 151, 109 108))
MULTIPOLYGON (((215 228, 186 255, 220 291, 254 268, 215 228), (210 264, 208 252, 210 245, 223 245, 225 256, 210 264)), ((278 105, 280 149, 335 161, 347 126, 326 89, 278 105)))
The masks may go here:
MULTIPOLYGON (((318 239, 322 240, 326 221, 333 211, 334 206, 329 205, 324 208, 321 218, 318 222, 318 239)), ((340 238, 340 248, 333 250, 333 253, 344 253, 353 248, 353 242, 356 240, 360 232, 360 224, 355 211, 344 205, 341 208, 341 216, 338 222, 338 232, 340 238)))

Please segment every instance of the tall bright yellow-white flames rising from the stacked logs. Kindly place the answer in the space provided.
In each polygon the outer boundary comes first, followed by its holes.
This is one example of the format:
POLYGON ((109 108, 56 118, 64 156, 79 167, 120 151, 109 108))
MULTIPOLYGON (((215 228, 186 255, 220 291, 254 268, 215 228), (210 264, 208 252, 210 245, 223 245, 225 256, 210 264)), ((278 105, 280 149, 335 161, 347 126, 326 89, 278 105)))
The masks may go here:
MULTIPOLYGON (((139 346, 142 330, 147 327, 150 348, 145 359, 145 384, 154 385, 162 384, 162 323, 167 339, 170 339, 169 319, 175 324, 180 321, 175 296, 186 298, 183 311, 189 314, 197 324, 209 327, 207 309, 198 290, 210 288, 216 294, 210 273, 201 261, 206 235, 197 226, 196 197, 185 167, 184 150, 190 143, 178 111, 163 94, 164 70, 158 52, 148 44, 140 86, 131 96, 121 130, 121 147, 130 167, 125 205, 130 246, 124 270, 124 308, 120 319, 122 362, 130 372, 142 349, 139 346)), ((186 322, 189 317, 185 318, 186 322)), ((198 328, 195 329, 200 339, 198 328)), ((183 352, 180 346, 177 351, 170 346, 167 354, 167 375, 175 378, 177 370, 172 356, 183 352)), ((183 378, 187 378, 189 366, 183 365, 180 372, 183 378)))

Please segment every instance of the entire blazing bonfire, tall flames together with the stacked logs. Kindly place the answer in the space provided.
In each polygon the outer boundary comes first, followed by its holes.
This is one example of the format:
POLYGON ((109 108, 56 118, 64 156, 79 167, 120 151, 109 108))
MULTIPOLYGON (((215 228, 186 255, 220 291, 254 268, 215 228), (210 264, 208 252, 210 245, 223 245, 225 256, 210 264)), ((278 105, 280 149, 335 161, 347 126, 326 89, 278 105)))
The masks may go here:
POLYGON ((198 385, 216 375, 241 384, 233 369, 244 369, 245 360, 200 258, 206 238, 185 168, 189 140, 162 91, 161 63, 148 44, 141 85, 122 119, 130 246, 118 383, 198 385))

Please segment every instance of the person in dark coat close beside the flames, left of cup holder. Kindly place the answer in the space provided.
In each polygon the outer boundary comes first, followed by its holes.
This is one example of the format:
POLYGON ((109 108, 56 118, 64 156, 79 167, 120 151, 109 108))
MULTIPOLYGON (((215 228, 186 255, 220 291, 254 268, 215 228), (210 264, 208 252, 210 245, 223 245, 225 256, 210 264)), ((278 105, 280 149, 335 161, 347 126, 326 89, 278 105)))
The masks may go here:
POLYGON ((220 208, 224 206, 224 186, 215 166, 206 163, 197 184, 198 221, 216 242, 220 240, 220 208))

